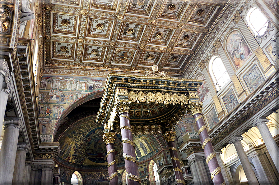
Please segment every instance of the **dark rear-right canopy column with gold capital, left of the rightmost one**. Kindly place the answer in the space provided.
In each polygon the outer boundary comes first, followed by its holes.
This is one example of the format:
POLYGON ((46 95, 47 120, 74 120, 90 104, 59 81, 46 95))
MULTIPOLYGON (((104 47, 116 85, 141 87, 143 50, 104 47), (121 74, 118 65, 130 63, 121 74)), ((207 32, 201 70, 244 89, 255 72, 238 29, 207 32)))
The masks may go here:
POLYGON ((177 185, 186 185, 180 166, 180 161, 178 159, 177 150, 174 144, 175 132, 170 130, 165 131, 163 137, 168 142, 168 147, 170 149, 170 158, 174 168, 175 181, 177 185))

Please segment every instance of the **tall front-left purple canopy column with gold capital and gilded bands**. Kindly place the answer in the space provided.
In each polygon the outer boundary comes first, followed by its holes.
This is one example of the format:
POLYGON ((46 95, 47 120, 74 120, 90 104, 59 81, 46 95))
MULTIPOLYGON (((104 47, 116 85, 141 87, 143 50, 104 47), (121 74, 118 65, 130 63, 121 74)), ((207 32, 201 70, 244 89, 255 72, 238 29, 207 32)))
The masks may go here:
POLYGON ((116 111, 119 114, 120 128, 123 144, 123 157, 125 161, 126 177, 128 185, 141 184, 138 169, 137 169, 137 157, 133 142, 133 133, 130 124, 130 118, 128 110, 130 108, 131 101, 129 100, 117 100, 116 111))

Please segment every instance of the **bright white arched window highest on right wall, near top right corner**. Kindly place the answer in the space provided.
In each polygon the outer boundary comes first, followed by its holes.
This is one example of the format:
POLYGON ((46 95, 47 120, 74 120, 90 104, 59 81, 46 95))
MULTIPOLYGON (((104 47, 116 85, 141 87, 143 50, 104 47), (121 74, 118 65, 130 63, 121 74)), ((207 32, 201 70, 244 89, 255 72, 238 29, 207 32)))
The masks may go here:
POLYGON ((246 20, 256 35, 263 35, 267 29, 268 20, 257 7, 253 7, 248 11, 246 20))

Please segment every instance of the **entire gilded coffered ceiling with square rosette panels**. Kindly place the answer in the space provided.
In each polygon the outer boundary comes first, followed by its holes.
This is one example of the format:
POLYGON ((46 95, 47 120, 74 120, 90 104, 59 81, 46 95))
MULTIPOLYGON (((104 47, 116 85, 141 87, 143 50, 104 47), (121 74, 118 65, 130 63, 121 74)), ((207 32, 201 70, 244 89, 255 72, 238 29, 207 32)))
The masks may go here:
POLYGON ((182 73, 227 1, 51 0, 42 10, 48 65, 182 73))

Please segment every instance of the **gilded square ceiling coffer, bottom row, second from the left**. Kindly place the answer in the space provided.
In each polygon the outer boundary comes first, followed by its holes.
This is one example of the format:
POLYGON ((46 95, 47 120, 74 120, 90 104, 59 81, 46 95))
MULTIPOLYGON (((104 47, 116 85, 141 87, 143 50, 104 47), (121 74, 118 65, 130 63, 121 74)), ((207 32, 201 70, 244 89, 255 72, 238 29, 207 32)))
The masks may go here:
POLYGON ((83 46, 83 62, 95 62, 95 63, 104 63, 105 55, 108 47, 97 46, 97 45, 86 45, 83 46))

